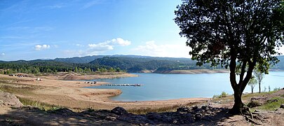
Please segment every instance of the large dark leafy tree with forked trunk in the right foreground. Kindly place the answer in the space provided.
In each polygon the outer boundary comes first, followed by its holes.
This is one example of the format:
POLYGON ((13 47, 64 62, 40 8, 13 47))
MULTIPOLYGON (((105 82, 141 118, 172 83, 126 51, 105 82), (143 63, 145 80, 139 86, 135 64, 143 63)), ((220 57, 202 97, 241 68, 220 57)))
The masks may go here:
POLYGON ((233 114, 242 114, 243 90, 256 64, 262 73, 278 62, 283 45, 282 0, 183 0, 175 10, 180 36, 198 65, 210 62, 230 69, 233 114), (239 72, 237 82, 236 71, 239 72))

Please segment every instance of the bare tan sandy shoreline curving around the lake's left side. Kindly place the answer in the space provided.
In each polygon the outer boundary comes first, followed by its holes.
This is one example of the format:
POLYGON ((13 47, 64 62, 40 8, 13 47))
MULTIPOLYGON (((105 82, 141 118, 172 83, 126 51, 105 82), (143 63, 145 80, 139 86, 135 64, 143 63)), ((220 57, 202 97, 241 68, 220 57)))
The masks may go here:
MULTIPOLYGON (((126 109, 146 109, 146 108, 165 108, 170 106, 187 106, 196 102, 206 102, 208 98, 187 98, 170 99, 161 101, 145 102, 118 102, 112 101, 109 97, 121 94, 121 90, 111 89, 90 89, 84 87, 93 86, 80 80, 55 80, 43 76, 42 80, 36 78, 0 75, 8 85, 18 88, 36 86, 29 93, 15 93, 16 96, 31 99, 34 101, 66 106, 70 109, 113 109, 116 106, 122 106, 126 109)), ((87 79, 86 79, 87 80, 87 79)), ((95 85, 105 84, 97 82, 95 85)), ((3 84, 2 84, 3 85, 3 84)))

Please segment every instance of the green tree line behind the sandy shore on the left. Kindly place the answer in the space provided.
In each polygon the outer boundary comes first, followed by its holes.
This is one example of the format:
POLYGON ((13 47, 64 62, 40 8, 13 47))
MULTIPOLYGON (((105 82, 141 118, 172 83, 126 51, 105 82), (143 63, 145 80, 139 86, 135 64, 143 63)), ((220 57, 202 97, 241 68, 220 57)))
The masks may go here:
POLYGON ((95 73, 121 72, 120 68, 96 64, 72 64, 54 61, 16 61, 0 62, 0 73, 57 73, 57 72, 95 73))

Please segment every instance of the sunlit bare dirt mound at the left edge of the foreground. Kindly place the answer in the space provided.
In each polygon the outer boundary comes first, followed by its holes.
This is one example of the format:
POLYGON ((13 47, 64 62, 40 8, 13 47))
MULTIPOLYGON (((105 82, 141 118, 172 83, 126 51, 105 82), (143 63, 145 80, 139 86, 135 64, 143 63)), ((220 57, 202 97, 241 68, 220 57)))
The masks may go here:
POLYGON ((22 103, 17 97, 15 97, 14 94, 0 91, 0 106, 3 106, 3 105, 20 107, 22 106, 22 103))

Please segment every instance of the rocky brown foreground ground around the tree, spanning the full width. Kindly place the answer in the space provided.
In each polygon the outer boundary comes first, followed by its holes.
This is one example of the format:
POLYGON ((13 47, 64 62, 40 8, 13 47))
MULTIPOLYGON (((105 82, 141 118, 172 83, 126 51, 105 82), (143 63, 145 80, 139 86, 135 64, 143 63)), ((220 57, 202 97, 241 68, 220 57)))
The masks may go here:
MULTIPOLYGON (((250 98, 259 99, 265 104, 271 97, 283 97, 284 90, 265 96, 250 98)), ((74 112, 69 109, 43 111, 32 106, 22 106, 13 94, 0 93, 0 125, 284 125, 284 110, 256 110, 249 116, 230 115, 228 99, 217 99, 196 106, 184 106, 176 111, 163 113, 133 114, 121 107, 112 110, 74 112)), ((276 101, 274 101, 276 102, 276 101)), ((261 104, 260 104, 261 106, 261 104)))

